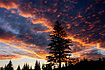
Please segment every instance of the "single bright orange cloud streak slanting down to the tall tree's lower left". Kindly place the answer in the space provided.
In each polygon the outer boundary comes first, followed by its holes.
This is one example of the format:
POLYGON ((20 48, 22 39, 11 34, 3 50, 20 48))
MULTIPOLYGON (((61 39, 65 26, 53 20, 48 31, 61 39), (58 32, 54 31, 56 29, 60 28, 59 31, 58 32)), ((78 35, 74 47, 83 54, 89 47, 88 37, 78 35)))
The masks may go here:
MULTIPOLYGON (((19 40, 13 39, 13 38, 9 38, 8 40, 0 39, 0 42, 3 42, 3 43, 5 43, 9 46, 18 48, 18 49, 23 50, 25 52, 28 52, 30 54, 33 54, 37 58, 40 58, 40 59, 45 59, 46 58, 46 56, 42 57, 41 54, 39 54, 38 52, 35 52, 35 50, 40 49, 39 46, 36 46, 35 44, 26 44, 23 41, 19 41, 19 40), (27 47, 27 46, 29 46, 29 47, 27 47), (32 49, 29 49, 30 46, 35 47, 35 50, 33 51, 32 49)), ((46 52, 45 50, 43 50, 43 51, 44 51, 43 53, 46 52)), ((47 52, 46 52, 46 54, 47 54, 47 52)))

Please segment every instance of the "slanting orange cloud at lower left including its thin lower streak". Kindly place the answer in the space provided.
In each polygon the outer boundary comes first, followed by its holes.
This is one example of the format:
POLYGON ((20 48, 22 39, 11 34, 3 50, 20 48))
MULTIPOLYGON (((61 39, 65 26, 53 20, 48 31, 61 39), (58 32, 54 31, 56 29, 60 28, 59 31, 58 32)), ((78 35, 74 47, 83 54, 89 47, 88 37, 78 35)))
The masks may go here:
MULTIPOLYGON (((21 42, 19 40, 13 40, 13 39, 11 39, 11 41, 0 39, 0 42, 3 42, 3 43, 5 43, 8 46, 15 47, 15 48, 21 50, 22 52, 24 52, 24 53, 18 53, 18 56, 20 56, 20 57, 22 55, 25 55, 25 56, 28 56, 28 57, 31 57, 31 58, 44 59, 44 57, 41 57, 41 54, 38 54, 42 50, 40 50, 40 47, 36 46, 35 44, 34 45, 26 44, 26 43, 23 43, 23 42, 21 42), (34 48, 32 48, 31 46, 34 47, 34 48)), ((43 50, 43 54, 45 52, 46 51, 43 50)), ((17 55, 17 53, 15 53, 15 52, 14 53, 10 53, 10 54, 17 55)), ((46 52, 46 54, 47 54, 47 52, 46 52)))

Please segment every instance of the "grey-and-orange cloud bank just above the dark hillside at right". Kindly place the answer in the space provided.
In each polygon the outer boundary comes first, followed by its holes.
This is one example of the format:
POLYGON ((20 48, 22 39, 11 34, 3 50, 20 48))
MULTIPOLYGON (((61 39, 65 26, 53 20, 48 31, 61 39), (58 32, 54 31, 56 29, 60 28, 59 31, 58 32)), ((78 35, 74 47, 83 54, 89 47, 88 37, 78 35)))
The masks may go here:
POLYGON ((104 52, 104 50, 99 50, 97 46, 93 46, 79 52, 74 52, 72 53, 71 57, 79 59, 87 58, 89 60, 97 60, 99 58, 105 57, 102 52, 104 52))

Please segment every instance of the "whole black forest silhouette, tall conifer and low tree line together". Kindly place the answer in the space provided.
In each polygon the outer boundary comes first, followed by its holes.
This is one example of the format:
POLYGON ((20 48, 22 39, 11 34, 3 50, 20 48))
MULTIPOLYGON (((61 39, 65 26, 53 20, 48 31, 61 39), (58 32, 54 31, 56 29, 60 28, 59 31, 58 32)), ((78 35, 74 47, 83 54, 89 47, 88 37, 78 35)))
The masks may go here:
MULTIPOLYGON (((64 27, 59 21, 55 22, 54 31, 50 34, 51 43, 48 44, 49 56, 46 56, 46 64, 40 65, 36 60, 34 69, 29 64, 25 63, 22 68, 18 65, 16 70, 95 70, 104 69, 105 58, 98 60, 88 60, 86 58, 80 60, 71 58, 71 48, 73 46, 70 39, 66 39, 67 34, 64 27), (62 62, 65 63, 62 65, 62 62), (57 65, 57 66, 56 66, 57 65)), ((0 67, 0 70, 14 70, 12 61, 10 60, 5 67, 0 67)))

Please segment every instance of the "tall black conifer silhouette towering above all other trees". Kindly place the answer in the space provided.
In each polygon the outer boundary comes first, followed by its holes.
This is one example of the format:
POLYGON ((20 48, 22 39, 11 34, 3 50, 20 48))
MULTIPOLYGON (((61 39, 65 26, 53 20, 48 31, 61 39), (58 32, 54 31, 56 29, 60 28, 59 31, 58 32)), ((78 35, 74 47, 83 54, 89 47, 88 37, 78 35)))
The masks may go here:
POLYGON ((71 52, 69 46, 72 46, 72 42, 66 39, 67 34, 59 21, 56 21, 54 25, 54 31, 50 34, 51 43, 48 49, 51 56, 47 56, 48 62, 59 63, 59 69, 61 69, 61 62, 67 60, 68 53, 71 52))

